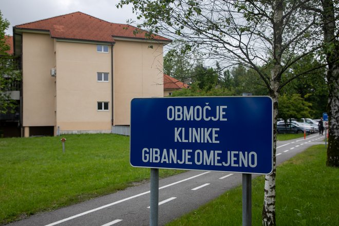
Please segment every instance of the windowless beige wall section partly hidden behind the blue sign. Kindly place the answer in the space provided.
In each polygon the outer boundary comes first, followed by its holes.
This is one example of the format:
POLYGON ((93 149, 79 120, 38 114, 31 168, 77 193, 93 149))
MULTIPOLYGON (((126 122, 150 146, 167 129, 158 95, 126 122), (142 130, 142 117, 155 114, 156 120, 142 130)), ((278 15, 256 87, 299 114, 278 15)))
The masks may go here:
POLYGON ((113 53, 114 125, 129 125, 131 99, 163 97, 163 45, 117 40, 113 53))

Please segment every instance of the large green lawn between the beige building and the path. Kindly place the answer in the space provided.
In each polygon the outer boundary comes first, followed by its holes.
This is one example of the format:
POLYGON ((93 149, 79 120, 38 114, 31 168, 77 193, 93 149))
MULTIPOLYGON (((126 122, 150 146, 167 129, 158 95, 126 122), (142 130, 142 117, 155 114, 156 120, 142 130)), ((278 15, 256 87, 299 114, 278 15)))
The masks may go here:
MULTIPOLYGON (((149 178, 129 164, 129 137, 0 139, 0 224, 123 190, 149 178)), ((161 170, 160 177, 178 173, 161 170)))

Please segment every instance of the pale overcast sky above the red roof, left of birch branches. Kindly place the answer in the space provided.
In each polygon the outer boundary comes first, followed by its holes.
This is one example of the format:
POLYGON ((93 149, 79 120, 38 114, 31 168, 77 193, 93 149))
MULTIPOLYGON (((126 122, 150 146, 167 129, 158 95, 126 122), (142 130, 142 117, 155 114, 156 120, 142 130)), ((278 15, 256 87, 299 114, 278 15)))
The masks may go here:
POLYGON ((111 23, 126 24, 128 19, 136 20, 131 6, 117 9, 119 0, 0 0, 0 10, 10 27, 39 21, 72 12, 83 12, 111 23))

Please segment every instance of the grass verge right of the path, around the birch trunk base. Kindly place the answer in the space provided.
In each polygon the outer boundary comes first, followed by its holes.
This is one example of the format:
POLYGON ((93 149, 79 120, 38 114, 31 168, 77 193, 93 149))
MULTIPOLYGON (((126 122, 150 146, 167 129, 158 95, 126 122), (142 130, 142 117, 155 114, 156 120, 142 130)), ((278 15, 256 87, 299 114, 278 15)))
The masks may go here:
MULTIPOLYGON (((326 166, 324 145, 308 148, 277 168, 277 225, 339 225, 339 169, 326 166)), ((252 225, 262 225, 264 176, 252 181, 252 225)), ((241 186, 166 224, 242 225, 241 186)))

